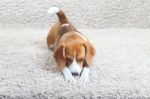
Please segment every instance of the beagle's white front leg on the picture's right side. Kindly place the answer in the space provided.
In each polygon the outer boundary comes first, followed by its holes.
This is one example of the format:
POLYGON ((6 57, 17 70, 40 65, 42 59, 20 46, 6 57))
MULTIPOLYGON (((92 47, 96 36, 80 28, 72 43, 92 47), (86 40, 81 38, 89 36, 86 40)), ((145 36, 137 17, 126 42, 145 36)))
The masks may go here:
POLYGON ((80 77, 80 81, 82 83, 88 83, 89 82, 89 68, 87 68, 87 67, 83 68, 83 71, 82 71, 82 74, 80 77))

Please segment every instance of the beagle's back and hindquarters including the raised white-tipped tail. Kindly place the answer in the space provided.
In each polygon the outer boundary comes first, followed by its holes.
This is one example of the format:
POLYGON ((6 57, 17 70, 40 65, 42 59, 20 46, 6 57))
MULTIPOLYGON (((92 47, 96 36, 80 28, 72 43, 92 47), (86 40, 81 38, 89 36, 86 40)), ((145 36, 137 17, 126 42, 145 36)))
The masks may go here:
POLYGON ((71 31, 77 31, 77 29, 68 21, 65 13, 56 8, 52 7, 48 10, 48 13, 50 14, 56 14, 58 16, 59 21, 55 23, 47 36, 47 46, 48 48, 54 50, 55 46, 57 45, 57 42, 59 39, 66 33, 69 33, 71 31))

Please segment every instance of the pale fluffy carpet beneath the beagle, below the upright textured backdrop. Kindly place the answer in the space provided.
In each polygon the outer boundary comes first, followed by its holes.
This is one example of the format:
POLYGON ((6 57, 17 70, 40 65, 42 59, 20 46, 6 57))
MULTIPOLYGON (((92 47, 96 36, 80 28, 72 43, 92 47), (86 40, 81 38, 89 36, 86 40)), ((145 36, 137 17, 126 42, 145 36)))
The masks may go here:
POLYGON ((80 29, 95 45, 90 82, 56 70, 48 29, 0 29, 0 99, 150 98, 150 30, 80 29))

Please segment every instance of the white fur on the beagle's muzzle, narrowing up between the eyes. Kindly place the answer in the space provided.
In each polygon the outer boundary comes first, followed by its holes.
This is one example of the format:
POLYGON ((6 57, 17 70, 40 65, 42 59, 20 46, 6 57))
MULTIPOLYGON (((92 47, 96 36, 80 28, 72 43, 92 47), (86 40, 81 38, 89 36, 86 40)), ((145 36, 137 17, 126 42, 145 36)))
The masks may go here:
POLYGON ((81 66, 77 63, 76 58, 73 59, 72 64, 69 66, 69 70, 71 73, 78 73, 80 74, 82 71, 81 66))

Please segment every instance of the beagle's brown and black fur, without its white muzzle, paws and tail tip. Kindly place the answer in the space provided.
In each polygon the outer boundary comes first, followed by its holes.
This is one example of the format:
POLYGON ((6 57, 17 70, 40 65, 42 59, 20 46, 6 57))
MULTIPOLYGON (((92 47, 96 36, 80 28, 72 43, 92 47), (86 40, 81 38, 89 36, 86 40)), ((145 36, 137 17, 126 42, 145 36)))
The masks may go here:
POLYGON ((78 34, 61 10, 57 15, 59 22, 52 26, 47 36, 47 46, 54 51, 57 68, 62 70, 69 66, 75 57, 81 67, 90 66, 96 52, 95 48, 87 38, 78 34))

